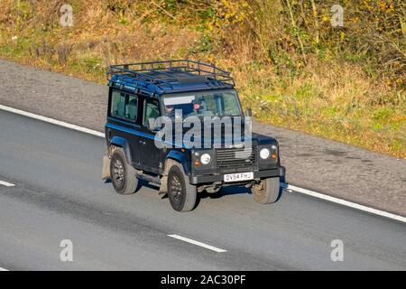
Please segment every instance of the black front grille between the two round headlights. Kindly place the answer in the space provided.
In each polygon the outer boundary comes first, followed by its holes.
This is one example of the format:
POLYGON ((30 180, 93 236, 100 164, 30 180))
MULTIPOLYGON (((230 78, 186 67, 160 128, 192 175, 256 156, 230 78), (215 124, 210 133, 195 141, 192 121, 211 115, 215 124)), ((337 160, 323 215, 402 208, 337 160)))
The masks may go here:
POLYGON ((218 148, 216 163, 218 168, 242 168, 253 166, 256 162, 254 148, 218 148))

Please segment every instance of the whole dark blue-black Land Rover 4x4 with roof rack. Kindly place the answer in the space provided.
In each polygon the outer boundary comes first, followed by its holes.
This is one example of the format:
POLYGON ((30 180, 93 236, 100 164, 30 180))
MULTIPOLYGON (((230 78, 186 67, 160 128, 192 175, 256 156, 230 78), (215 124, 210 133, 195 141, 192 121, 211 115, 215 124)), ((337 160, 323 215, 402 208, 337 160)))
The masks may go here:
POLYGON ((228 185, 251 188, 260 203, 280 198, 279 144, 247 129, 251 110, 242 113, 229 72, 198 61, 154 61, 110 66, 107 77, 103 179, 115 191, 131 194, 138 179, 153 182, 178 211, 193 210, 198 192, 228 185), (194 134, 184 126, 190 119, 194 134))

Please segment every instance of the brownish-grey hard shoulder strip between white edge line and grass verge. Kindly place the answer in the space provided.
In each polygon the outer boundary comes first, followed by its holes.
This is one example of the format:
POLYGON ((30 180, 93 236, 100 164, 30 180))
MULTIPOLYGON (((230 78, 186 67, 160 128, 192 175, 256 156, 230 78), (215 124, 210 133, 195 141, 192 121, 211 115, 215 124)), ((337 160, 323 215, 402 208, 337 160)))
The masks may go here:
MULTIPOLYGON (((2 60, 0 75, 1 105, 104 130, 106 84, 2 60)), ((406 217, 406 160, 258 122, 254 131, 278 139, 291 184, 406 217)))

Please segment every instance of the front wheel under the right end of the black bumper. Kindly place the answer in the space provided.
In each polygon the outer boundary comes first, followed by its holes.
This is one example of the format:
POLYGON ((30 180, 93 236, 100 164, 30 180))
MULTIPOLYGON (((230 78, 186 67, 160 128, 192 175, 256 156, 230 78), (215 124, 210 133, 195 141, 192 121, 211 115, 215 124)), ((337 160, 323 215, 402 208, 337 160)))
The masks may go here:
POLYGON ((271 204, 281 197, 279 177, 268 178, 251 188, 254 200, 261 204, 271 204))

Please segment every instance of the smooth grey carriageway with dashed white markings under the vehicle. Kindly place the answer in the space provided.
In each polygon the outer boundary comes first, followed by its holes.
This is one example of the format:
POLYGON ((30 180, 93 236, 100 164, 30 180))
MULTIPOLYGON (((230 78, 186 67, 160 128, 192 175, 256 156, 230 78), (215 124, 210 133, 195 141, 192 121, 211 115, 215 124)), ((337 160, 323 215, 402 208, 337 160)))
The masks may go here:
POLYGON ((0 267, 9 270, 406 270, 406 226, 285 192, 203 195, 189 213, 153 186, 130 196, 100 180, 102 138, 0 111, 0 267), (168 235, 225 249, 217 253, 168 235), (60 242, 73 262, 60 261, 60 242), (331 242, 344 244, 333 262, 331 242))

